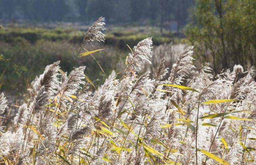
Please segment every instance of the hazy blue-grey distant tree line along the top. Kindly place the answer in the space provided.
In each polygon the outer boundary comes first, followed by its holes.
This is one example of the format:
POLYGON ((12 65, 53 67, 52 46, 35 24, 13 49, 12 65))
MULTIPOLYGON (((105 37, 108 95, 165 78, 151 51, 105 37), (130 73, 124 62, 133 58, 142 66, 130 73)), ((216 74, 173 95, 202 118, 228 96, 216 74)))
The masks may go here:
POLYGON ((108 24, 153 25, 168 29, 169 21, 186 24, 194 0, 0 0, 0 22, 90 22, 104 16, 108 24))

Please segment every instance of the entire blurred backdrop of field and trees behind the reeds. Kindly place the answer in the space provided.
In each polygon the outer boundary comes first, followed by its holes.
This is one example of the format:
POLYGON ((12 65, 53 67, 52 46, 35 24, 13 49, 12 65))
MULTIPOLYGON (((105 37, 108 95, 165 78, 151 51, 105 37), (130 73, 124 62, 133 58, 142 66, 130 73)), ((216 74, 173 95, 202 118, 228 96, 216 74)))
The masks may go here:
MULTIPOLYGON (((152 67, 161 57, 171 68, 177 55, 195 45, 195 65, 210 62, 213 73, 256 65, 256 1, 252 0, 0 0, 0 86, 21 94, 45 66, 61 60, 70 71, 88 27, 105 17, 105 42, 76 66, 95 86, 112 70, 122 71, 140 40, 153 36, 152 67), (99 68, 97 62, 102 67, 99 68), (17 92, 18 91, 18 92, 17 92)), ((145 66, 145 69, 151 67, 145 66)))

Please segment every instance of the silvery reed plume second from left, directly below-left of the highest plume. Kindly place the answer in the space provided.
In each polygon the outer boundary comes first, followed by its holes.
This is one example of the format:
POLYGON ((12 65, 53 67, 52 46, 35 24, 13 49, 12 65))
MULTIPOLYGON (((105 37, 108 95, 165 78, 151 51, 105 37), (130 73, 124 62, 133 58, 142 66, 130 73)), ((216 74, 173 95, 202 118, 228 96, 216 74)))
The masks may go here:
POLYGON ((82 80, 85 78, 84 76, 85 67, 78 67, 70 72, 67 77, 67 73, 61 76, 61 87, 59 93, 61 95, 70 96, 76 92, 77 89, 80 88, 80 84, 85 84, 82 80))

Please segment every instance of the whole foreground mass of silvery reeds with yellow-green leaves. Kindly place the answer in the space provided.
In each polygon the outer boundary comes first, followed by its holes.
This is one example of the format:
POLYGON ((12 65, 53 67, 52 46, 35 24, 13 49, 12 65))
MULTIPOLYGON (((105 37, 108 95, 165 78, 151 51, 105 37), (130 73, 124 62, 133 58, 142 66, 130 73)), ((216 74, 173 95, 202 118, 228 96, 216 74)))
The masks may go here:
MULTIPOLYGON (((103 20, 91 26, 84 43, 104 40, 103 20)), ((143 63, 154 59, 151 49, 151 38, 140 41, 127 56, 125 71, 113 71, 94 92, 85 67, 67 75, 60 61, 54 62, 32 82, 31 97, 12 125, 5 123, 2 93, 1 162, 255 164, 254 67, 213 76, 208 63, 196 69, 188 47, 170 70, 163 57, 153 60, 158 66, 152 73, 138 76, 143 63)), ((93 52, 80 51, 77 59, 93 52)))

